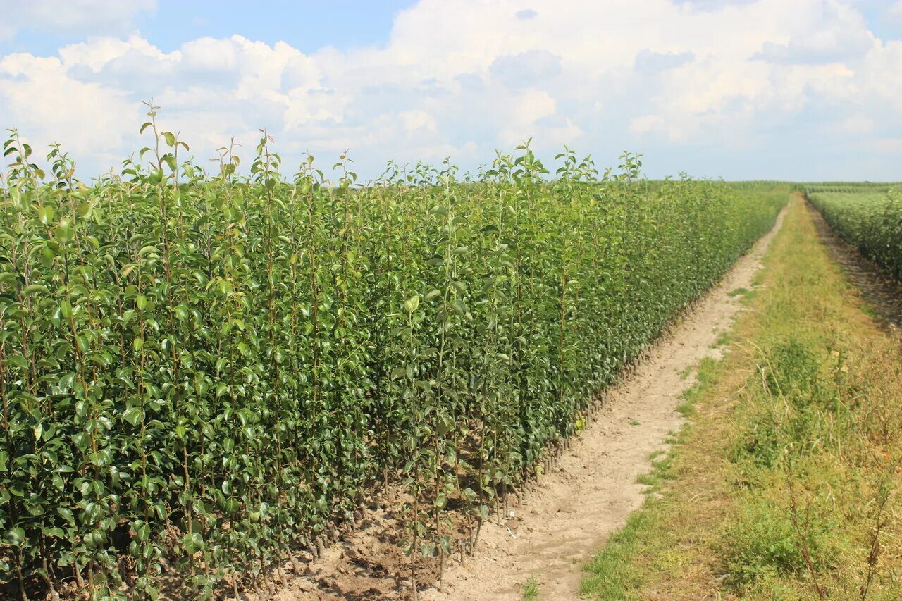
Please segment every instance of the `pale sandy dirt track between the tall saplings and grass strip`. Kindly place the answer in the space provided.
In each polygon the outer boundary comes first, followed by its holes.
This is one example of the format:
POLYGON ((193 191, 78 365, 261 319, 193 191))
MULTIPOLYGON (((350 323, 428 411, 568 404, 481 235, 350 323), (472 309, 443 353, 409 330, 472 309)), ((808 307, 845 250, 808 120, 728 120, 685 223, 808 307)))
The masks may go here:
POLYGON ((642 504, 645 486, 636 479, 649 473, 649 456, 683 421, 676 407, 695 381, 684 375, 703 357, 720 356, 717 339, 742 308, 741 296, 729 293, 752 288, 782 218, 608 394, 596 421, 524 495, 515 515, 483 526, 474 557, 448 570, 445 592, 421 598, 520 599, 530 577, 538 579, 539 598, 578 598, 581 565, 642 504))

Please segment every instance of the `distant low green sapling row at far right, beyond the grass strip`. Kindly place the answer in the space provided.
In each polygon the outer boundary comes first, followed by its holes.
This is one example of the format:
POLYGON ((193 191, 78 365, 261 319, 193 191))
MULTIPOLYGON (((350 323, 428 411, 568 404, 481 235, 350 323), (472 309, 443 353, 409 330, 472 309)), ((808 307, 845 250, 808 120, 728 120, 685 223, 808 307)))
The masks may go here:
POLYGON ((807 197, 843 240, 902 281, 902 191, 809 190, 807 197))

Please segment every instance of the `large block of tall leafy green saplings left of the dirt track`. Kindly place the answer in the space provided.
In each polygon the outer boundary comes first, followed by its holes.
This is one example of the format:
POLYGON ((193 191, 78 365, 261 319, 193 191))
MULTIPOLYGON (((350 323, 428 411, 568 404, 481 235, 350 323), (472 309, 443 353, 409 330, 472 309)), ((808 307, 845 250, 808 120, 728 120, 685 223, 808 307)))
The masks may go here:
MULTIPOLYGON (((529 150, 478 181, 391 167, 360 187, 207 177, 155 123, 121 177, 44 178, 13 133, 0 191, 0 579, 89 596, 259 586, 317 552, 381 479, 407 550, 478 524, 594 393, 774 223, 786 194, 712 181, 556 179, 529 150), (65 591, 64 591, 65 589, 65 591)), ((477 527, 478 531, 478 527, 477 527)), ((472 532, 472 531, 471 531, 472 532)))

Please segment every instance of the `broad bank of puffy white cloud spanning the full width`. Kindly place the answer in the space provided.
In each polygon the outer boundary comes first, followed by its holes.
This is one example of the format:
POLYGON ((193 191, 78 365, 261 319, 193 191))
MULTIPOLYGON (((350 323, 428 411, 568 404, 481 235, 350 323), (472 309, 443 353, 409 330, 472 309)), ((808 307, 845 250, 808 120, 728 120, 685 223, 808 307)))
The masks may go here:
MULTIPOLYGON (((123 27, 152 10, 134 6, 123 27)), ((539 152, 631 148, 692 171, 686 145, 723 165, 717 149, 764 161, 793 136, 815 150, 902 137, 902 42, 842 0, 421 0, 380 47, 308 54, 236 34, 163 52, 124 32, 0 58, 0 115, 97 168, 138 147, 149 97, 199 159, 232 135, 248 153, 266 127, 286 171, 304 151, 348 147, 364 176, 391 157, 473 168, 529 136, 539 152)))

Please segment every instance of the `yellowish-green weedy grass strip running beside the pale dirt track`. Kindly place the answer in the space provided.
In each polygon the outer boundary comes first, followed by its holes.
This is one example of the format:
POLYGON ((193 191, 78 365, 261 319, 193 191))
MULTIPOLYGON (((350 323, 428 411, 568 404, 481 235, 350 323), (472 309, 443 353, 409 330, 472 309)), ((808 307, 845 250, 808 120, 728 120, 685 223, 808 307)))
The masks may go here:
POLYGON ((749 344, 699 369, 690 421, 640 478, 654 494, 586 564, 584 597, 846 599, 865 583, 868 598, 902 595, 899 341, 800 202, 756 279, 733 331, 749 344))

